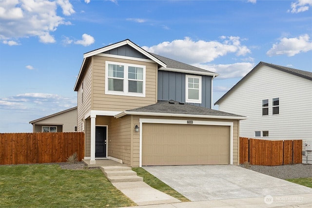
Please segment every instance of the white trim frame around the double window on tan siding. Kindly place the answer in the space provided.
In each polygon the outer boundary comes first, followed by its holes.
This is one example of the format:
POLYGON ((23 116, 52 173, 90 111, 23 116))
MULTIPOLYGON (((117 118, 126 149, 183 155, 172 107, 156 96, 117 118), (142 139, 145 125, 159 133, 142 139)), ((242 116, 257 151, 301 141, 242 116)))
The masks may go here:
POLYGON ((146 71, 146 66, 144 66, 144 65, 105 61, 105 94, 106 95, 124 95, 124 96, 134 96, 134 97, 145 97, 145 83, 146 83, 146 78, 145 78, 146 72, 145 71, 146 71), (108 64, 116 64, 116 65, 123 65, 124 66, 123 92, 108 90, 108 64), (129 66, 143 68, 143 93, 129 93, 128 92, 128 81, 129 81, 129 79, 128 79, 128 67, 129 66))

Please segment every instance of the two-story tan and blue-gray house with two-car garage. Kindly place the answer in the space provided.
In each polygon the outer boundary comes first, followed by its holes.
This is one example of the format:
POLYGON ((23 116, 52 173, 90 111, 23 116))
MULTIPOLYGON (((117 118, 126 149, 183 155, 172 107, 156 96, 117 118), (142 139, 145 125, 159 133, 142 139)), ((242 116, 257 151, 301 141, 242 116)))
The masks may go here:
POLYGON ((126 39, 85 53, 74 87, 85 160, 131 167, 239 163, 239 120, 212 110, 218 74, 126 39))

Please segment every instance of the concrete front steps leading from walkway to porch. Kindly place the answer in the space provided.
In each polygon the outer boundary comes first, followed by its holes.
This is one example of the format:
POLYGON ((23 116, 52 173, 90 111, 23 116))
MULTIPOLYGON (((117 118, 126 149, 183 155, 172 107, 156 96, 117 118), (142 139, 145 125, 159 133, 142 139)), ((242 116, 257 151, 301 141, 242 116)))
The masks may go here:
POLYGON ((106 166, 101 167, 101 170, 111 183, 143 181, 143 178, 137 176, 137 172, 130 167, 106 166))

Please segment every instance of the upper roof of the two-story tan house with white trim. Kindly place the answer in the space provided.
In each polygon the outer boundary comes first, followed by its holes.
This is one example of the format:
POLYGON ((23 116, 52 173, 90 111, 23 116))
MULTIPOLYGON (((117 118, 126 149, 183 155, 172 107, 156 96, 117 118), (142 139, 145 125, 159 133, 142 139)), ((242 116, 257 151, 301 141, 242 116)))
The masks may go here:
POLYGON ((160 70, 165 71, 175 71, 175 72, 181 72, 181 73, 192 73, 192 74, 198 74, 198 75, 208 75, 208 76, 218 76, 217 73, 210 72, 208 70, 204 70, 189 64, 185 64, 170 58, 162 57, 153 53, 149 53, 145 51, 143 48, 139 47, 137 44, 133 43, 129 39, 125 39, 123 41, 87 52, 83 54, 83 62, 80 67, 79 75, 75 83, 74 91, 78 91, 78 87, 82 81, 82 78, 84 76, 85 71, 87 70, 88 64, 91 60, 92 56, 104 53, 106 51, 118 48, 123 45, 129 45, 136 49, 138 52, 142 53, 146 57, 150 58, 151 60, 155 61, 158 66, 160 66, 160 70))

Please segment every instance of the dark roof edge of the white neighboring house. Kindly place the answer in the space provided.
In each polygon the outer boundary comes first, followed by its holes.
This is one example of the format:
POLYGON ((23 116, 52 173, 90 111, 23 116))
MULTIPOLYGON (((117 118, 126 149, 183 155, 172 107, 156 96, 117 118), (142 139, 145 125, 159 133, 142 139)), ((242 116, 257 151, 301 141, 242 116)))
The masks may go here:
POLYGON ((220 101, 222 101, 227 95, 229 95, 231 92, 233 92, 247 77, 249 77, 255 70, 257 70, 260 66, 269 66, 273 69, 280 70, 282 72, 286 72, 295 76, 300 76, 305 79, 312 80, 312 72, 307 72, 303 70, 293 69, 285 66, 279 66, 275 64, 265 63, 260 61, 254 69, 252 69, 246 76, 244 76, 241 80, 239 80, 226 94, 224 94, 220 99, 218 99, 215 102, 215 105, 217 105, 220 101))

